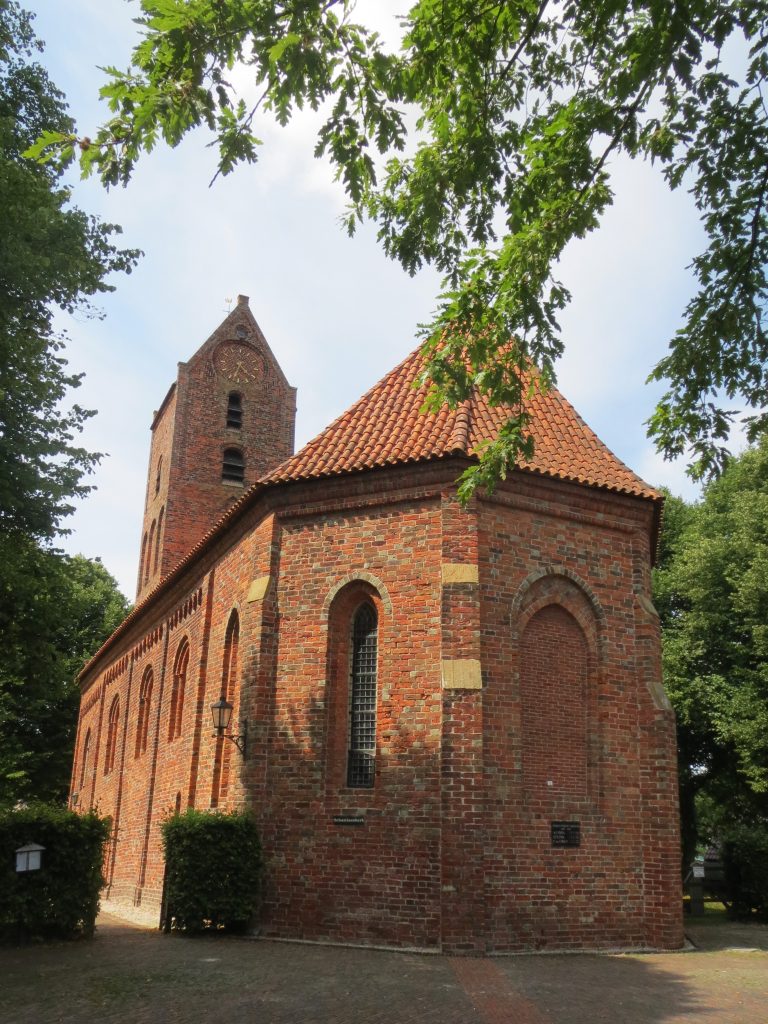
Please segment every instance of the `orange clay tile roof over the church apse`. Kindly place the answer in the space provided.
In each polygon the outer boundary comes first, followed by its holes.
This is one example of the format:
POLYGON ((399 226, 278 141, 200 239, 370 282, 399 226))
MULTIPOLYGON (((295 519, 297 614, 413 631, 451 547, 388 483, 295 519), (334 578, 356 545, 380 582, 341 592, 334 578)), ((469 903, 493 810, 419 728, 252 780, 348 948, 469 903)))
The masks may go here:
MULTIPOLYGON (((262 478, 279 483, 400 463, 473 456, 509 417, 473 395, 457 409, 422 415, 427 387, 414 387, 424 367, 413 352, 323 433, 262 478)), ((605 487, 640 498, 660 495, 632 472, 587 426, 556 388, 526 400, 535 454, 520 468, 544 476, 605 487)))

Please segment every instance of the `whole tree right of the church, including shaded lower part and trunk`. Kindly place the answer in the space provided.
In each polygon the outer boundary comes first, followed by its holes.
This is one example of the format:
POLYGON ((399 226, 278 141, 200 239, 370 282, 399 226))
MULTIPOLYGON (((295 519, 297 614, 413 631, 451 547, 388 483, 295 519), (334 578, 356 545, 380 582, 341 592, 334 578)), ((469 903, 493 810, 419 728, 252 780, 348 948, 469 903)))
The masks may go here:
POLYGON ((718 833, 768 842, 768 435, 665 520, 654 599, 689 861, 718 833))

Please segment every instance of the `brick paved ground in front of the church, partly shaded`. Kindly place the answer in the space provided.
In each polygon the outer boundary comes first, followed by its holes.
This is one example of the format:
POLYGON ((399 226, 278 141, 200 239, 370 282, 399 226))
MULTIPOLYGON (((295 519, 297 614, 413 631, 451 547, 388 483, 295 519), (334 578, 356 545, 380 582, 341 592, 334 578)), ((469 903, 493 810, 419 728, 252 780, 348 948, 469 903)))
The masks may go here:
POLYGON ((688 931, 696 951, 471 959, 102 914, 92 942, 0 949, 0 1024, 766 1024, 768 927, 688 931))

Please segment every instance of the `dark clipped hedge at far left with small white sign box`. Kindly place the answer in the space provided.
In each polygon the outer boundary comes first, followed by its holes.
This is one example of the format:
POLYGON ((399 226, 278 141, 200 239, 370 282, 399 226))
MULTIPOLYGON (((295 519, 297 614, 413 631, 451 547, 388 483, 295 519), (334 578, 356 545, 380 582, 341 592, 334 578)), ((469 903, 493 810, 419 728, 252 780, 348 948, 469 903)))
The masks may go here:
POLYGON ((110 818, 35 804, 0 810, 0 939, 93 934, 110 818), (15 851, 45 847, 40 870, 17 872, 15 851))

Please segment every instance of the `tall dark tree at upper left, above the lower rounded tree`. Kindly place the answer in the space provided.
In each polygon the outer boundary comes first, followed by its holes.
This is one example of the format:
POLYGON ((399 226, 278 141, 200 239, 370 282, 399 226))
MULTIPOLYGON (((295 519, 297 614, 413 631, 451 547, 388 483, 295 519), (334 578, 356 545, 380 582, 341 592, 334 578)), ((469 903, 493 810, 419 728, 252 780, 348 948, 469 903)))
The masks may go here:
POLYGON ((30 15, 0 4, 0 530, 49 540, 88 490, 98 456, 75 438, 92 414, 67 409, 80 376, 67 369, 54 306, 91 311, 113 270, 137 258, 110 241, 120 229, 69 205, 61 169, 22 154, 43 131, 72 131, 61 93, 30 57, 40 43, 30 15))

